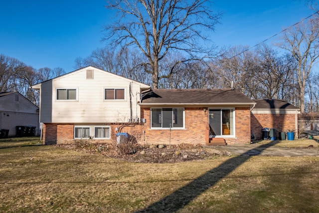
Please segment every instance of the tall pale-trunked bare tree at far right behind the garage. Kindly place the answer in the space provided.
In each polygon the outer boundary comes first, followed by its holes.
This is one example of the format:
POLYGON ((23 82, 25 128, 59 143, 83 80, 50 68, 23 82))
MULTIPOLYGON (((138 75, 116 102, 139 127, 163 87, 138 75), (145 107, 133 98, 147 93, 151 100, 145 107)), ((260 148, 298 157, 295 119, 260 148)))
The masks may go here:
POLYGON ((300 110, 305 112, 305 87, 314 63, 319 57, 319 22, 317 17, 301 22, 284 32, 279 47, 288 50, 297 61, 300 110))

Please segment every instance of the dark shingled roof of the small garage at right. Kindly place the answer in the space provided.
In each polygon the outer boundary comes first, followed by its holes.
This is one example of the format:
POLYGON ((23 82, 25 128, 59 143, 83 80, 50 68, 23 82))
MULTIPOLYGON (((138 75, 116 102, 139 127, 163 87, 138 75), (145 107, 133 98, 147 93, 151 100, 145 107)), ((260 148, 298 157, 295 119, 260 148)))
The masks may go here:
POLYGON ((256 99, 254 109, 299 109, 290 103, 278 99, 256 99))

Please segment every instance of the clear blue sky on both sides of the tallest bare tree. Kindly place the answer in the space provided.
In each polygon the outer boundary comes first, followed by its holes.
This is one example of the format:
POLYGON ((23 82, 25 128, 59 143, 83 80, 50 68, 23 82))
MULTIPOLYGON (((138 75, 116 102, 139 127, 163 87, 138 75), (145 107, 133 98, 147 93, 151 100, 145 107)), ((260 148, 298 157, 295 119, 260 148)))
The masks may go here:
MULTIPOLYGON (((215 0, 216 11, 224 15, 211 40, 219 46, 254 46, 311 15, 304 2, 215 0)), ((4 0, 0 4, 0 54, 37 69, 73 71, 75 58, 106 45, 101 42, 102 27, 112 21, 112 14, 105 4, 105 0, 4 0)))

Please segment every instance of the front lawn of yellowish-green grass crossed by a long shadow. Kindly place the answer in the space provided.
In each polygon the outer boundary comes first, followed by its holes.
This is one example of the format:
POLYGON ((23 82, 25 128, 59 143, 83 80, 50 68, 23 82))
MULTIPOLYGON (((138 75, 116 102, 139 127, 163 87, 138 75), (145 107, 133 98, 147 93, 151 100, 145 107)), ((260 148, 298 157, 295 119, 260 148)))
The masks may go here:
POLYGON ((0 140, 0 212, 319 212, 319 157, 128 163, 0 140))

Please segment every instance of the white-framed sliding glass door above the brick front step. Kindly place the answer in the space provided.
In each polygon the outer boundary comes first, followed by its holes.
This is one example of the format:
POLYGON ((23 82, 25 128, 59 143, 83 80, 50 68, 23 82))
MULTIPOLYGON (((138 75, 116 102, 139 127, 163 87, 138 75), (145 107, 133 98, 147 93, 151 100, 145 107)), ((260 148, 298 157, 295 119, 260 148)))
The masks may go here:
POLYGON ((235 135, 235 110, 234 109, 209 109, 209 125, 212 129, 210 135, 234 136, 235 135))

